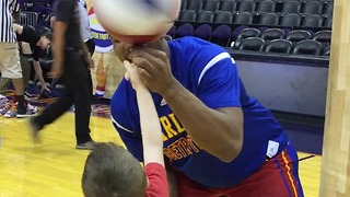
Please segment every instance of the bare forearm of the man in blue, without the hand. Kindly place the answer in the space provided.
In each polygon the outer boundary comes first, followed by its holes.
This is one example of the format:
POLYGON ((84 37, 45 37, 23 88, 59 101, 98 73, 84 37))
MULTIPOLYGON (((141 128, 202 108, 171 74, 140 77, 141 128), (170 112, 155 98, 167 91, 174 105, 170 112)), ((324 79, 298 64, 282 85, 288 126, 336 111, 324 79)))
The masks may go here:
POLYGON ((200 148, 224 162, 238 155, 243 144, 241 108, 209 108, 177 81, 161 95, 200 148))

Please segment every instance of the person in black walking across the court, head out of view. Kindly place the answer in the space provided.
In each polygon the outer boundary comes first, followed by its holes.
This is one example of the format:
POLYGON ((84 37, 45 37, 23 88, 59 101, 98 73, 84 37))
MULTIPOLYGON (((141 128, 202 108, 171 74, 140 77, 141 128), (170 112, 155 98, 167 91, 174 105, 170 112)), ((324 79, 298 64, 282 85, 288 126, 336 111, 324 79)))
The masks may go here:
POLYGON ((93 149, 94 141, 90 136, 91 81, 90 69, 94 66, 88 47, 80 34, 78 2, 57 0, 54 5, 56 16, 54 27, 54 63, 50 78, 65 81, 65 92, 58 101, 47 106, 39 116, 31 118, 32 136, 38 132, 75 106, 77 149, 93 149))

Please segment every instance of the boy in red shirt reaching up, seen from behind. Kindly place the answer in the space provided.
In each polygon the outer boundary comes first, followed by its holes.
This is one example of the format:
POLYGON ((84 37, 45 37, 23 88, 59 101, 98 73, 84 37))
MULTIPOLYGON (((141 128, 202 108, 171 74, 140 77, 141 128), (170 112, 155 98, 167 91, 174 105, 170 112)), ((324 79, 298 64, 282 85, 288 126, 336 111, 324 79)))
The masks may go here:
POLYGON ((124 148, 98 143, 85 163, 83 193, 85 197, 167 197, 162 130, 155 106, 151 93, 139 78, 140 69, 128 61, 124 65, 127 69, 126 79, 137 92, 145 174, 139 161, 124 148))

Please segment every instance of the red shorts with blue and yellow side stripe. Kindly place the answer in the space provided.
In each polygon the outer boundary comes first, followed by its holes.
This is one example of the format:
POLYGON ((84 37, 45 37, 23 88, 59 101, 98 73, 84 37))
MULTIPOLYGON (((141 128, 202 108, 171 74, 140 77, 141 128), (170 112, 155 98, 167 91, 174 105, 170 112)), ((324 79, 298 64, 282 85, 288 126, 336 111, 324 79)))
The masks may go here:
POLYGON ((203 188, 185 175, 176 173, 180 197, 302 197, 298 175, 298 155, 289 146, 244 182, 231 188, 203 188))

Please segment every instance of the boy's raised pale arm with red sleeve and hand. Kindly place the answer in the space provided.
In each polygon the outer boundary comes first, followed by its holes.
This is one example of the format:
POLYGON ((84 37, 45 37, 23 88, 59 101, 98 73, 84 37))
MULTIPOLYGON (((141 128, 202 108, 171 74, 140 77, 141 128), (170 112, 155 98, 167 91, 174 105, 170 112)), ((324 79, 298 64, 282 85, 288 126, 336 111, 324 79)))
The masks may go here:
POLYGON ((168 184, 163 158, 162 128, 150 91, 140 80, 140 69, 128 61, 126 79, 137 93, 139 106, 144 170, 149 181, 147 197, 168 196, 168 184))

